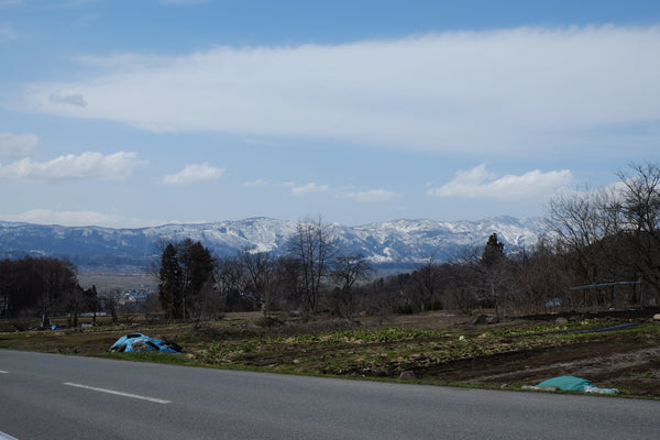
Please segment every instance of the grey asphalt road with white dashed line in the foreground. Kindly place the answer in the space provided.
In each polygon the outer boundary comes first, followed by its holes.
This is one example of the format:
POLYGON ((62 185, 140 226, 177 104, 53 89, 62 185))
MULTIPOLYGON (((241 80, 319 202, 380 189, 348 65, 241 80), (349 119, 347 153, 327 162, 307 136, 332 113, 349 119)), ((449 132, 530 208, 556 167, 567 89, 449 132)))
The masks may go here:
POLYGON ((0 439, 657 439, 660 402, 0 350, 0 439))

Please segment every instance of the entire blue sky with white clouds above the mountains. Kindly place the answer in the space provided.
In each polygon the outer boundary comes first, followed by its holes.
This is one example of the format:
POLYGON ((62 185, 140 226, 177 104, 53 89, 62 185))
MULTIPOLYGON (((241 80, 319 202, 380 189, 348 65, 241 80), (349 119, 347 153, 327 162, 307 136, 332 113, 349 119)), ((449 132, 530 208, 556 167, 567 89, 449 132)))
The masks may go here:
POLYGON ((659 160, 660 2, 0 0, 0 220, 534 217, 659 160))

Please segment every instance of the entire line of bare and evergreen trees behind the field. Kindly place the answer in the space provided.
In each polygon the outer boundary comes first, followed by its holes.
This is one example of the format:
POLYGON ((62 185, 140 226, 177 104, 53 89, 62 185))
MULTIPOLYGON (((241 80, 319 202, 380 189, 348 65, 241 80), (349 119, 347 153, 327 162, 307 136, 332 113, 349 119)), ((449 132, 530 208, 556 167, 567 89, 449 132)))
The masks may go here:
MULTIPOLYGON (((653 306, 660 301, 660 166, 631 165, 616 185, 554 197, 546 237, 531 249, 507 250, 494 231, 486 243, 449 262, 432 255, 409 273, 380 275, 359 252, 345 252, 332 227, 298 222, 286 252, 244 249, 217 257, 199 241, 162 242, 153 274, 156 300, 145 312, 167 319, 213 319, 227 311, 261 310, 352 320, 427 310, 495 309, 498 317, 588 308, 653 306), (639 285, 570 288, 616 282, 639 285), (641 286, 642 288, 639 288, 641 286), (615 294, 619 297, 615 298, 615 294)), ((117 293, 80 288, 67 260, 0 261, 0 316, 116 312, 117 293)))

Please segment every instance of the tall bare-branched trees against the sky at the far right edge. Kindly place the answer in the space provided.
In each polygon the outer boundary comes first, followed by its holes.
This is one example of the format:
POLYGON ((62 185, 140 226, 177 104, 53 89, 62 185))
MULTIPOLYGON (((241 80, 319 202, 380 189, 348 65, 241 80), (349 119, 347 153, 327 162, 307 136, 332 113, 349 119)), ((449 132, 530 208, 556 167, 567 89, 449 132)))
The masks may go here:
POLYGON ((559 251, 585 284, 641 279, 660 290, 660 165, 631 165, 618 185, 565 195, 550 206, 559 251))

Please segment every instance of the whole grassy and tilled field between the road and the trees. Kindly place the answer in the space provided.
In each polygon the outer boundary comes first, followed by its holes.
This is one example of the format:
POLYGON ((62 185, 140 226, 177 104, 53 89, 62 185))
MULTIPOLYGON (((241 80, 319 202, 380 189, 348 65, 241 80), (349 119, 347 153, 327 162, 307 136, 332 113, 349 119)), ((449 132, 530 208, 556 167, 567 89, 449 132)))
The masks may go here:
MULTIPOLYGON (((213 322, 148 323, 11 331, 0 321, 0 348, 101 355, 193 366, 331 375, 520 389, 559 375, 615 387, 623 396, 660 398, 660 323, 648 317, 518 319, 474 326, 473 317, 438 311, 385 322, 302 322, 231 314, 213 322), (608 331, 622 323, 634 327, 608 331), (182 354, 108 353, 121 336, 142 332, 184 348, 182 354)), ((108 319, 108 318, 103 318, 108 319)), ((25 324, 25 322, 23 322, 25 324)))

